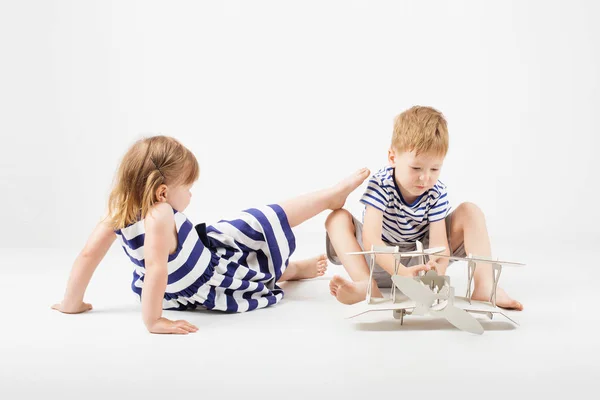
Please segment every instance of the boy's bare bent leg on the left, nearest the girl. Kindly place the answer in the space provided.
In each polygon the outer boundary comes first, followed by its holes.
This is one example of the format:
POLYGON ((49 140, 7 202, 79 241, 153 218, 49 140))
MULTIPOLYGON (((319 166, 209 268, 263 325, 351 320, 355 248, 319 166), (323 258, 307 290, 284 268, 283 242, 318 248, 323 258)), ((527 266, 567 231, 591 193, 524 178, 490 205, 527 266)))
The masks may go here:
MULTIPOLYGON (((351 251, 362 251, 356 239, 356 227, 352 214, 344 209, 333 211, 325 222, 327 235, 337 258, 344 266, 352 281, 335 275, 329 284, 330 292, 338 301, 344 304, 354 304, 363 301, 367 295, 370 270, 365 257, 348 255, 351 251)), ((372 281, 371 295, 383 297, 375 280, 372 281)))

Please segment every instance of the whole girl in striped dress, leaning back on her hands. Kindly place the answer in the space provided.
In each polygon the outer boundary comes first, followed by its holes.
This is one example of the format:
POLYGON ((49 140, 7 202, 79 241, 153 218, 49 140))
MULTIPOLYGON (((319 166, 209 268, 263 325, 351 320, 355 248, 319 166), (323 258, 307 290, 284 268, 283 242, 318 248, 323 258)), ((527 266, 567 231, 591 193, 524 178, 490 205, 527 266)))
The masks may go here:
POLYGON ((163 318, 163 309, 244 312, 276 304, 283 298, 277 282, 323 275, 327 263, 325 257, 290 262, 296 247, 291 228, 341 208, 367 176, 363 168, 331 188, 194 226, 182 212, 199 177, 196 158, 170 137, 139 140, 121 162, 108 216, 77 256, 63 301, 52 308, 68 314, 92 309, 83 302, 85 290, 117 238, 135 265, 131 287, 151 333, 198 330, 163 318))

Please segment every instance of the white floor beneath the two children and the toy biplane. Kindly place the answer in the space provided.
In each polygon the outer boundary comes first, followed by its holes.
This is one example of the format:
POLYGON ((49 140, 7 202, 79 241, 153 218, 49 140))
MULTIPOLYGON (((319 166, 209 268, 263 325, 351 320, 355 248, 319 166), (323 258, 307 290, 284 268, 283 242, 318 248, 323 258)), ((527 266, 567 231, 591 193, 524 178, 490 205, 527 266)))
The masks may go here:
MULTIPOLYGON (((551 248, 495 244, 503 258, 528 263, 505 268, 500 281, 526 309, 510 314, 518 327, 482 319, 481 336, 422 317, 400 326, 388 312, 347 320, 328 291, 331 275, 343 273, 337 266, 322 279, 286 284, 276 307, 168 312, 200 330, 151 335, 129 288, 131 265, 116 245, 88 289, 94 310, 82 315, 50 310, 75 250, 0 250, 0 399, 595 398, 597 256, 557 247, 552 255, 551 248)), ((320 237, 299 237, 297 255, 322 248, 320 237)), ((458 293, 465 267, 449 271, 458 293)))

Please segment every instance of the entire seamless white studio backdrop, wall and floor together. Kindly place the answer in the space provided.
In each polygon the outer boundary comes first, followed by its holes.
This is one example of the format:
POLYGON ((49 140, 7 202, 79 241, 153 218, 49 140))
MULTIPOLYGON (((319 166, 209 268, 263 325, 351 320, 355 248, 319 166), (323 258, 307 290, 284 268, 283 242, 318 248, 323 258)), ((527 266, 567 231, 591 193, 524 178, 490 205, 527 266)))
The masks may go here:
MULTIPOLYGON (((594 1, 1 1, 0 398, 593 397, 598 21, 594 1), (448 119, 454 204, 479 204, 494 253, 527 263, 500 282, 520 326, 347 320, 330 265, 276 307, 166 312, 200 330, 151 335, 116 245, 93 311, 50 310, 141 135, 195 152, 186 214, 213 222, 384 166, 415 104, 448 119)), ((296 257, 323 251, 326 215, 296 257)))

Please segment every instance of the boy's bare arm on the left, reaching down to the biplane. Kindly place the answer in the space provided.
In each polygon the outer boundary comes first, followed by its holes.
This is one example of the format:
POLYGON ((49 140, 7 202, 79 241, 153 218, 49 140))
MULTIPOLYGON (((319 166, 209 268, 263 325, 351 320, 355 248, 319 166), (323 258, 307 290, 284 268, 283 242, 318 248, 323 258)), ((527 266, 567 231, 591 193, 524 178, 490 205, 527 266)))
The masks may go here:
MULTIPOLYGON (((387 246, 387 244, 381 240, 381 232, 383 230, 383 212, 370 205, 367 205, 366 207, 363 225, 363 244, 365 250, 370 250, 372 245, 387 246)), ((378 254, 375 259, 381 268, 383 268, 390 275, 394 275, 394 256, 390 254, 378 254)), ((419 271, 426 271, 429 268, 430 267, 428 265, 406 267, 402 263, 399 263, 398 275, 415 276, 419 273, 419 271)))

